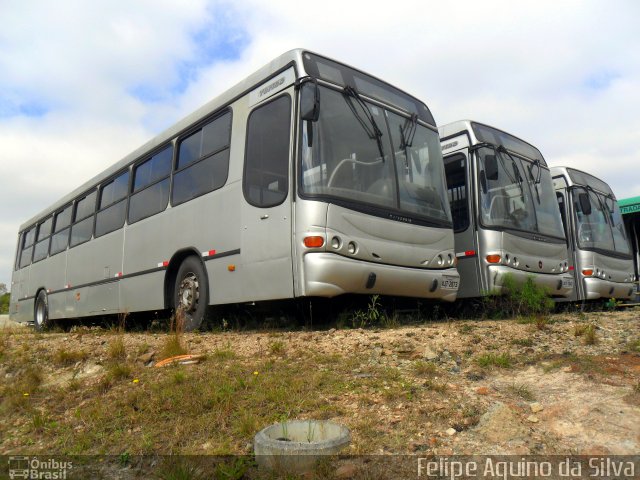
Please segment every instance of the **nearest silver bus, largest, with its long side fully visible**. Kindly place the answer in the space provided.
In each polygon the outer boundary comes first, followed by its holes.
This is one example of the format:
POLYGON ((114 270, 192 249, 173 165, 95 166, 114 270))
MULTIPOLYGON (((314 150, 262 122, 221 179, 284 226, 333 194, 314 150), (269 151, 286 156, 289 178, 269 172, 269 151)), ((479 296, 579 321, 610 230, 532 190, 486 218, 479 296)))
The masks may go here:
POLYGON ((11 317, 458 287, 427 106, 304 50, 276 58, 19 231, 11 317))

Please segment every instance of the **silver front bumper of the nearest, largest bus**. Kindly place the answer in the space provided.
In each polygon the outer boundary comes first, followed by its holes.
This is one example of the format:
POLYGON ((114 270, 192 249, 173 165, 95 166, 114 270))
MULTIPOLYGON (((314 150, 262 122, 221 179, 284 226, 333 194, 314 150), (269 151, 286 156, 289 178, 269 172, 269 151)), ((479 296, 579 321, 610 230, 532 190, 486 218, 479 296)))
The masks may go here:
POLYGON ((460 285, 460 276, 455 268, 427 270, 398 267, 326 252, 307 253, 303 268, 303 294, 310 297, 359 293, 453 302, 460 285))

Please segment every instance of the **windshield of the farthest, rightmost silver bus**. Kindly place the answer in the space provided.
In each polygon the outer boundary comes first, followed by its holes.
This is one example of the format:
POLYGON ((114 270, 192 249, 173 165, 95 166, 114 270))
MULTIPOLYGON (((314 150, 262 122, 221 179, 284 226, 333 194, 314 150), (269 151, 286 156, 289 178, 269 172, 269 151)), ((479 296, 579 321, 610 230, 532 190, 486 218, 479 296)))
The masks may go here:
POLYGON ((580 248, 629 254, 629 242, 615 199, 583 187, 573 187, 571 194, 580 248), (580 194, 588 195, 591 204, 591 212, 588 215, 583 211, 579 201, 580 194))

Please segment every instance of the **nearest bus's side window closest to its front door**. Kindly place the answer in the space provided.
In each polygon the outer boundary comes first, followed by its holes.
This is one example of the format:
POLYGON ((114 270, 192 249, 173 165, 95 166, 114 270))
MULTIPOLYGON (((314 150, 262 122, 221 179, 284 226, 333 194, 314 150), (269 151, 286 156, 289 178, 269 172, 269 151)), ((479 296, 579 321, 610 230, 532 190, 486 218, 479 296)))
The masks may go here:
POLYGON ((171 204, 221 188, 229 173, 231 112, 209 122, 180 142, 171 204))

